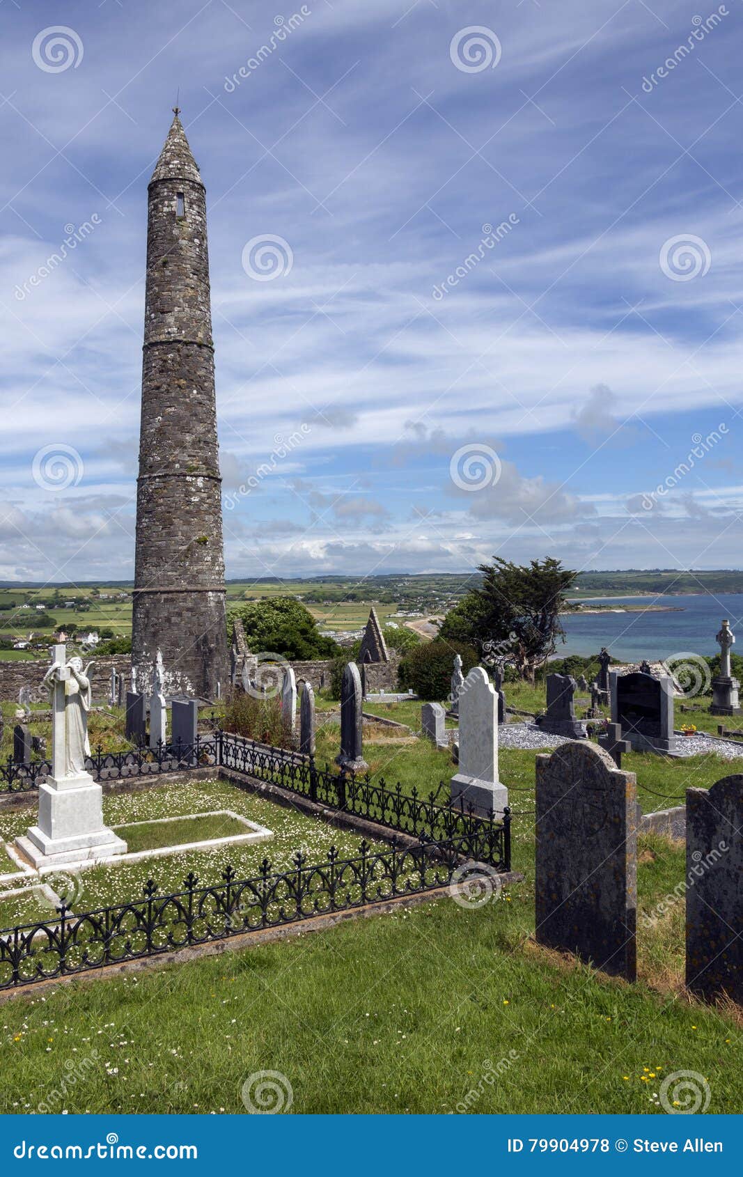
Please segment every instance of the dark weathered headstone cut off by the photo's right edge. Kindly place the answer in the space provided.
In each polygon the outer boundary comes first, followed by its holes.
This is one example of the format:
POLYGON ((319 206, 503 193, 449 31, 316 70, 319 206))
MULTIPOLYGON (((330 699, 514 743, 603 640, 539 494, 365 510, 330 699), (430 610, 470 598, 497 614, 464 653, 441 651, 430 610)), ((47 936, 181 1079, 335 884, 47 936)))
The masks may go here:
POLYGON ((743 1004, 743 776, 686 790, 686 985, 743 1004))

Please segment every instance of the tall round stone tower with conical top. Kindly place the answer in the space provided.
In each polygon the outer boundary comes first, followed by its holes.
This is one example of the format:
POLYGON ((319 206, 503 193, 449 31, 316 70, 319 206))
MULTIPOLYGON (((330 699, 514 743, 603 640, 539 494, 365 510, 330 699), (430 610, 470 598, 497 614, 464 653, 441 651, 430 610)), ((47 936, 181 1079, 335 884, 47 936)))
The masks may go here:
POLYGON ((206 193, 178 118, 150 181, 132 672, 214 699, 227 680, 206 193))

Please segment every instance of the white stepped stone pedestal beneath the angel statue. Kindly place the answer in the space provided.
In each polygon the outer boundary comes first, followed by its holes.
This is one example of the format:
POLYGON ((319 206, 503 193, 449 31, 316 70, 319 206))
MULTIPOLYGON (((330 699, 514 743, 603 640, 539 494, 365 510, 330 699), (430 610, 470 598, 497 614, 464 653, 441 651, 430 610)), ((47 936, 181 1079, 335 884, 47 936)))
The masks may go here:
POLYGON ((104 825, 104 791, 88 772, 39 785, 39 822, 15 839, 37 870, 125 855, 126 843, 104 825))

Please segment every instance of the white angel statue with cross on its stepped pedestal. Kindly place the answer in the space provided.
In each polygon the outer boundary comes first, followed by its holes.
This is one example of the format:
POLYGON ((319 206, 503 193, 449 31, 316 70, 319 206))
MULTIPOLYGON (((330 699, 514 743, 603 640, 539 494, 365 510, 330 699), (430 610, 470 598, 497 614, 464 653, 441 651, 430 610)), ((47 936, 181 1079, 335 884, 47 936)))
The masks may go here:
POLYGON ((42 684, 52 694, 52 774, 39 785, 37 825, 16 838, 37 870, 126 853, 126 843, 104 825, 104 791, 86 769, 88 671, 81 658, 67 660, 64 644, 53 647, 42 684))

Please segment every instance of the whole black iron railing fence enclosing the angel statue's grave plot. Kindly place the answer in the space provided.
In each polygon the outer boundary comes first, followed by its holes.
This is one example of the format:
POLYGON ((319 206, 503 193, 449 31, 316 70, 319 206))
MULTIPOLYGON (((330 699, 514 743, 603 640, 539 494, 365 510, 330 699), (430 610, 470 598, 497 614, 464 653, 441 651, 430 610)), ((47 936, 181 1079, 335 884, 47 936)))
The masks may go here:
MULTIPOLYGON (((414 791, 404 793, 399 785, 387 789, 384 780, 372 784, 367 777, 319 770, 313 757, 220 731, 185 749, 106 754, 99 750, 88 762, 99 780, 204 765, 232 769, 281 785, 331 812, 373 822, 389 845, 377 849, 363 842, 359 855, 346 859, 333 847, 324 863, 309 863, 298 853, 292 869, 280 872, 264 859, 260 875, 248 879, 238 879, 227 867, 221 882, 211 886, 198 886, 191 873, 184 890, 173 895, 159 895, 150 879, 141 899, 82 913, 69 911, 62 899, 58 917, 49 922, 0 931, 0 990, 419 895, 457 882, 464 863, 479 864, 489 885, 511 867, 509 810, 496 820, 492 814, 483 818, 439 804, 443 785, 424 799, 414 791), (400 834, 407 836, 404 844, 400 834)), ((46 762, 11 764, 4 787, 32 789, 49 771, 46 762)))

